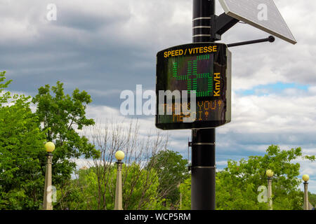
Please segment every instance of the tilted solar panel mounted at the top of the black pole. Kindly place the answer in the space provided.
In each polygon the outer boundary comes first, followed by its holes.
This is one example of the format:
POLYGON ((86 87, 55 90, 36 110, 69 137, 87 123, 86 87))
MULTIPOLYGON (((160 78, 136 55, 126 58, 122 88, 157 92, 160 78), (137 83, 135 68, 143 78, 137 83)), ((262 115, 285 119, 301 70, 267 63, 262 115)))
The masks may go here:
POLYGON ((258 29, 296 44, 273 0, 219 0, 225 13, 258 29))

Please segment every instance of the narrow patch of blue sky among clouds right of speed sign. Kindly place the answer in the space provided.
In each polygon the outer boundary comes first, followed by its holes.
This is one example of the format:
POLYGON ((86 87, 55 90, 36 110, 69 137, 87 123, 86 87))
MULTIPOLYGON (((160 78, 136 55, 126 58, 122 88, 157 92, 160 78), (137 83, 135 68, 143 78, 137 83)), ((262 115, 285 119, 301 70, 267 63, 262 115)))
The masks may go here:
POLYGON ((297 83, 274 83, 268 85, 257 85, 253 87, 251 90, 237 90, 237 94, 242 94, 244 96, 247 95, 268 95, 268 94, 279 94, 287 89, 296 89, 296 90, 305 90, 308 91, 308 87, 310 85, 301 85, 297 83))

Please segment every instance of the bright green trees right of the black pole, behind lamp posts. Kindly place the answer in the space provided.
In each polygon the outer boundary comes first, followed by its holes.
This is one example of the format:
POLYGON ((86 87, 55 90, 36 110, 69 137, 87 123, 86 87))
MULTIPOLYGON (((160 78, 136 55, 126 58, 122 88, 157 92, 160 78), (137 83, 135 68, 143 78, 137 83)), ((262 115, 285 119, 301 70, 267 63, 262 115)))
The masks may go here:
MULTIPOLYGON (((272 169, 275 173, 272 182, 273 209, 301 210, 303 193, 299 189, 300 165, 294 163, 297 158, 315 161, 315 156, 302 156, 301 148, 281 151, 279 146, 273 145, 268 147, 263 156, 250 156, 248 160, 239 162, 229 160, 228 167, 216 173, 216 209, 268 209, 266 203, 258 202, 258 187, 267 186, 265 172, 272 169)), ((180 187, 183 195, 188 194, 185 189, 189 183, 185 181, 180 187)))

